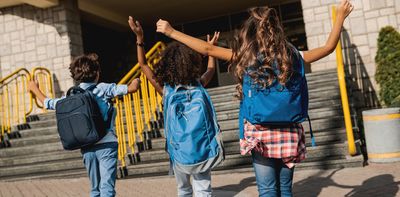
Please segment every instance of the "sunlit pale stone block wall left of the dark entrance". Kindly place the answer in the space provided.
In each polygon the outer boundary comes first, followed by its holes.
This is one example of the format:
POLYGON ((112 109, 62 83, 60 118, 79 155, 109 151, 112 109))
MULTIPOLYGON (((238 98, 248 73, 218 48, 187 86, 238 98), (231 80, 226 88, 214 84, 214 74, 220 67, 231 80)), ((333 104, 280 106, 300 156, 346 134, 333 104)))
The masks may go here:
POLYGON ((0 9, 0 73, 44 66, 54 73, 56 95, 73 85, 71 57, 83 53, 76 0, 47 9, 18 5, 0 9))

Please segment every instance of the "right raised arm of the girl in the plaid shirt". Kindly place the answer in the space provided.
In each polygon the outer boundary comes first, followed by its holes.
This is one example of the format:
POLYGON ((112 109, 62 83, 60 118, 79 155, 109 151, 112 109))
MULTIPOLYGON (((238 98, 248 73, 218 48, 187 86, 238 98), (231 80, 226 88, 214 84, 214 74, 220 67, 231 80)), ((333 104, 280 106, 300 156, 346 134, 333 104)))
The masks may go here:
POLYGON ((353 5, 350 3, 349 0, 341 1, 337 10, 336 21, 333 24, 332 31, 329 34, 328 40, 322 47, 311 49, 309 51, 304 51, 304 61, 306 63, 315 62, 329 55, 335 50, 336 45, 339 42, 340 32, 342 30, 343 22, 352 10, 353 10, 353 5))

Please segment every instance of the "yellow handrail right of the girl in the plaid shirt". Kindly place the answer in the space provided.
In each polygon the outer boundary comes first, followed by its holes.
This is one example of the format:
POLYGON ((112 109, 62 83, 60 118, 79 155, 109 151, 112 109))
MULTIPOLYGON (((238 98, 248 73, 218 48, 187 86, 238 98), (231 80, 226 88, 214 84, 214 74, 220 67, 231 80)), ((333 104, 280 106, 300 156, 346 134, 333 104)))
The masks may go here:
MULTIPOLYGON (((333 21, 333 23, 336 21, 336 6, 332 7, 332 21, 333 21)), ((340 41, 338 42, 338 44, 336 46, 336 61, 337 61, 337 73, 338 73, 338 80, 339 80, 340 96, 342 98, 343 116, 344 116, 344 122, 345 122, 345 126, 346 126, 348 151, 349 151, 349 154, 353 156, 356 154, 356 147, 355 147, 355 142, 354 142, 353 126, 351 123, 349 100, 347 97, 347 88, 346 88, 344 65, 343 65, 343 55, 342 55, 342 45, 341 45, 340 41)))

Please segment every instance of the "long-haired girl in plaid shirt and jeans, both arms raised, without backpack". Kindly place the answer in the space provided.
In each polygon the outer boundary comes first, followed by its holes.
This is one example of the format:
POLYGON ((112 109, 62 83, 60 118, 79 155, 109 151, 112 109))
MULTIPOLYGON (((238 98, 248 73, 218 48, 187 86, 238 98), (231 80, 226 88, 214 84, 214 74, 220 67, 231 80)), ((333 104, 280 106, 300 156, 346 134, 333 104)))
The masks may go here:
MULTIPOLYGON (((349 0, 341 1, 337 20, 325 46, 300 53, 305 63, 317 61, 334 51, 343 22, 352 9, 349 0)), ((233 49, 214 46, 185 35, 161 19, 157 22, 157 32, 164 33, 203 55, 231 61, 230 68, 231 70, 234 68, 234 75, 240 82, 237 90, 239 98, 243 101, 252 97, 251 94, 242 91, 244 79, 250 78, 251 84, 262 89, 267 89, 276 83, 285 87, 290 78, 296 74, 292 64, 298 54, 286 40, 275 9, 251 8, 249 15, 235 37, 233 49)), ((253 109, 258 110, 259 107, 253 106, 253 109)), ((242 113, 244 110, 241 108, 240 114, 242 113)), ((305 158, 305 137, 301 124, 271 126, 239 121, 244 123, 243 129, 240 130, 241 153, 252 154, 259 195, 292 196, 294 164, 305 158)))

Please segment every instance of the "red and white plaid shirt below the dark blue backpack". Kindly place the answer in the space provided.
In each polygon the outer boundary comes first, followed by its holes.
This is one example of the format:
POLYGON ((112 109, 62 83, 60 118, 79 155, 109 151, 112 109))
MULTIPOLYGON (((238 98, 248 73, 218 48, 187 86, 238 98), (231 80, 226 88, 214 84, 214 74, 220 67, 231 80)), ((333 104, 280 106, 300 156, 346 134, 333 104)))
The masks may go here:
POLYGON ((305 159, 305 135, 300 123, 278 127, 246 122, 244 136, 245 139, 240 140, 242 155, 251 154, 254 150, 267 158, 282 159, 289 168, 305 159))

